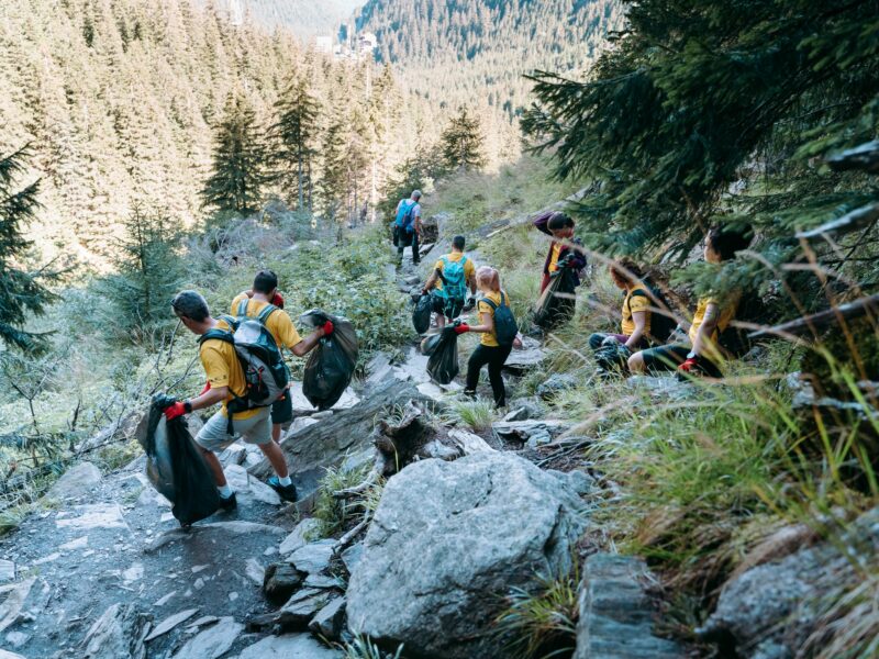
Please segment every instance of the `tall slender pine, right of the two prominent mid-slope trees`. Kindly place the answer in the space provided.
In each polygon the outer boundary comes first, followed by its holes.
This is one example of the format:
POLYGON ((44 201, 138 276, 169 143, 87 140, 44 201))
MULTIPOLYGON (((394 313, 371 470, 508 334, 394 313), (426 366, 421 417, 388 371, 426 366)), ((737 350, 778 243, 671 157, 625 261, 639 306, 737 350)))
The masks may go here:
POLYGON ((293 183, 290 174, 296 174, 297 209, 304 211, 318 132, 318 101, 311 93, 308 78, 300 76, 291 81, 275 109, 278 123, 271 129, 276 142, 274 159, 290 187, 293 183))

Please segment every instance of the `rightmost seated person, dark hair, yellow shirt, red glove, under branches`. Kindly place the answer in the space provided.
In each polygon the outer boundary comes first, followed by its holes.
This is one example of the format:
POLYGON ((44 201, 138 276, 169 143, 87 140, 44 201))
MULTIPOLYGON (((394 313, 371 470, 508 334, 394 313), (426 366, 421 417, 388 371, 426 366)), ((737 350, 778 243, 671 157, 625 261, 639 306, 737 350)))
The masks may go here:
MULTIPOLYGON (((723 227, 712 228, 705 237, 703 256, 710 264, 720 264, 735 257, 750 243, 747 233, 723 227)), ((674 370, 680 376, 705 373, 722 377, 717 367, 722 361, 717 335, 735 316, 741 294, 705 297, 699 300, 689 331, 689 343, 670 344, 635 353, 628 358, 633 373, 674 370)))

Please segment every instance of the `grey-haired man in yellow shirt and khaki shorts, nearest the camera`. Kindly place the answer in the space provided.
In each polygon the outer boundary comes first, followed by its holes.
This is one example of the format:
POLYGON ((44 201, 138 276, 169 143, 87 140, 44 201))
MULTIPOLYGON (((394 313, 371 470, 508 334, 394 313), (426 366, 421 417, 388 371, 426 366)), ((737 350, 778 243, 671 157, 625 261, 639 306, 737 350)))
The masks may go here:
MULTIPOLYGON (((254 293, 256 295, 257 293, 254 293)), ((264 294, 264 293, 260 293, 264 294)), ((171 300, 171 309, 175 315, 186 327, 198 336, 203 336, 211 330, 222 330, 230 332, 232 328, 222 319, 214 319, 208 309, 208 303, 196 291, 181 291, 171 300)), ((283 312, 275 312, 272 315, 287 315, 283 312)), ((289 319, 288 319, 289 321, 289 319)), ((318 340, 325 334, 332 333, 332 324, 316 330, 304 339, 300 339, 296 346, 296 353, 304 355, 311 350, 318 340)), ((247 387, 244 380, 244 369, 238 361, 235 347, 219 338, 209 338, 201 342, 199 357, 208 383, 202 392, 189 400, 177 401, 165 409, 165 416, 173 421, 178 416, 188 414, 194 410, 204 410, 222 403, 222 407, 208 423, 202 426, 196 436, 196 444, 204 456, 204 461, 213 473, 216 487, 220 490, 220 506, 223 510, 232 510, 237 505, 235 493, 229 487, 223 466, 220 463, 215 451, 223 450, 232 444, 238 436, 245 443, 255 444, 265 454, 268 461, 275 469, 276 477, 269 479, 271 485, 282 499, 287 501, 296 500, 296 488, 290 480, 287 468, 287 459, 277 443, 271 440, 269 427, 269 407, 255 407, 235 413, 234 433, 229 432, 229 411, 227 405, 233 398, 241 398, 246 394, 247 387)))

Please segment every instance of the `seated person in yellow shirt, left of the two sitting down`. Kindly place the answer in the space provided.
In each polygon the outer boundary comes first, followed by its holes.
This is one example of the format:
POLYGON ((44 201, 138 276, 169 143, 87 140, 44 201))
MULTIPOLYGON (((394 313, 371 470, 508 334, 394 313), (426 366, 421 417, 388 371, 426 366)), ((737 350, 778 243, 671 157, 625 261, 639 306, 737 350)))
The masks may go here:
POLYGON ((620 334, 596 332, 589 336, 589 347, 596 354, 599 367, 604 371, 626 366, 635 350, 649 347, 650 291, 642 281, 641 267, 630 258, 608 267, 616 288, 625 291, 622 306, 620 334))

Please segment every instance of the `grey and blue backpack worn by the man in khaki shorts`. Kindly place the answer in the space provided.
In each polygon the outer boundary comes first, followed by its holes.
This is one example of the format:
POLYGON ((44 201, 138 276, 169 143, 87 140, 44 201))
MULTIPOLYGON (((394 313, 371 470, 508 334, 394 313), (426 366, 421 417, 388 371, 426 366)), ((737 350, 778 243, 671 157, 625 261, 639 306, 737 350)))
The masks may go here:
POLYGON ((199 344, 215 338, 234 346, 244 370, 245 394, 233 398, 226 405, 230 435, 233 434, 233 414, 254 407, 267 407, 283 396, 290 382, 290 371, 283 362, 283 356, 271 332, 266 327, 268 316, 278 308, 267 304, 258 316, 247 317, 247 302, 248 300, 243 300, 238 305, 237 319, 220 316, 232 328, 231 332, 214 328, 199 339, 199 344))

